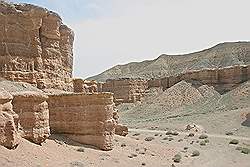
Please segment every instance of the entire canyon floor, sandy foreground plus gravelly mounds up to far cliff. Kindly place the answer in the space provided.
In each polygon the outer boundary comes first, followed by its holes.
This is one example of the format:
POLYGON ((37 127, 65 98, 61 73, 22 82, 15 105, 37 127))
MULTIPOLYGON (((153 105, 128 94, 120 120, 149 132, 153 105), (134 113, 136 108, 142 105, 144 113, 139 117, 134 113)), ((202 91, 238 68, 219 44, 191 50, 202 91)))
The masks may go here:
POLYGON ((249 85, 222 95, 184 81, 166 91, 150 89, 142 102, 117 107, 129 134, 115 136, 112 151, 62 135, 42 146, 22 139, 16 150, 0 147, 0 166, 249 167, 250 154, 244 154, 250 150, 249 85), (196 127, 187 130, 187 125, 196 127), (199 139, 202 134, 207 138, 199 139), (232 140, 236 144, 229 144, 232 140), (194 151, 199 155, 192 156, 194 151), (173 160, 177 154, 180 162, 173 160))

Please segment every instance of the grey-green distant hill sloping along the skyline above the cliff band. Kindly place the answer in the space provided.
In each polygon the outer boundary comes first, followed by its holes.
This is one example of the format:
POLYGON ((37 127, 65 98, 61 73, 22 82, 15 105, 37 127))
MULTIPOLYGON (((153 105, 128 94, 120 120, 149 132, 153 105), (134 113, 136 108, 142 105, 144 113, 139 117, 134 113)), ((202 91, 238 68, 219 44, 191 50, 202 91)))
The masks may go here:
POLYGON ((154 60, 117 65, 88 80, 104 82, 116 78, 160 78, 188 70, 247 64, 250 64, 250 42, 226 42, 195 53, 162 54, 154 60))

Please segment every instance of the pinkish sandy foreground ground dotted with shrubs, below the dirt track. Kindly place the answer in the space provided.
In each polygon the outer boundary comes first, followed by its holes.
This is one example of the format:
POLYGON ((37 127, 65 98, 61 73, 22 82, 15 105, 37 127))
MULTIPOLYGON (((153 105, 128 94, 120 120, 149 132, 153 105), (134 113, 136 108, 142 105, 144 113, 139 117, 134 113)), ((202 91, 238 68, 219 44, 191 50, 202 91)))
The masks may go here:
POLYGON ((42 146, 22 140, 16 150, 0 147, 0 166, 166 167, 173 164, 176 167, 249 167, 250 154, 242 154, 236 147, 250 147, 250 138, 210 134, 209 143, 201 146, 199 136, 197 133, 187 137, 187 133, 182 132, 169 136, 166 131, 131 129, 127 137, 115 136, 112 151, 101 151, 53 135, 42 146), (152 137, 152 141, 145 141, 147 137, 152 137), (229 144, 235 138, 239 144, 229 144), (194 150, 200 155, 192 157, 194 150), (181 155, 180 163, 173 162, 175 154, 181 155))

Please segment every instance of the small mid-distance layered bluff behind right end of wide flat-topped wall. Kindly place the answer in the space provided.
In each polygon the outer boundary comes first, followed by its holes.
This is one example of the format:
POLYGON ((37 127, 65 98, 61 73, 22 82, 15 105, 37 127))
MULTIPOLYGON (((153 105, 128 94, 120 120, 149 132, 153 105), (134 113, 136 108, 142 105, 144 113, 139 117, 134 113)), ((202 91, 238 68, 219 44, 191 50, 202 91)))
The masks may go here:
POLYGON ((114 93, 117 104, 133 103, 141 100, 147 87, 147 81, 143 79, 109 79, 102 85, 102 91, 114 93))

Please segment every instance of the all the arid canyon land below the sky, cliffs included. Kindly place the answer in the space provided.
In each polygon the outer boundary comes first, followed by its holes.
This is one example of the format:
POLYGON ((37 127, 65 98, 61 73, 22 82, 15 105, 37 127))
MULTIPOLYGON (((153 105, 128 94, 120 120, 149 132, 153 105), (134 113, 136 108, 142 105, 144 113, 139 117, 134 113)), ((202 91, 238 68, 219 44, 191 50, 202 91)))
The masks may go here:
POLYGON ((0 167, 250 167, 250 42, 74 78, 74 32, 0 2, 0 167))

